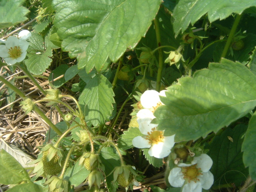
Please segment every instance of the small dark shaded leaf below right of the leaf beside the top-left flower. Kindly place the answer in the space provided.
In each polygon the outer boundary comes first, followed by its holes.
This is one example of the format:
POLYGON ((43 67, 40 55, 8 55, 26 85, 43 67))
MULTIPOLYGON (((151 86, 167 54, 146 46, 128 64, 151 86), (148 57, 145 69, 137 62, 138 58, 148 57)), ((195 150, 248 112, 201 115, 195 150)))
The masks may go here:
POLYGON ((54 81, 54 86, 56 88, 62 86, 64 83, 66 83, 67 81, 65 80, 65 73, 68 70, 68 65, 67 64, 62 64, 61 66, 58 66, 56 69, 54 69, 50 75, 49 75, 49 82, 52 82, 52 74, 53 75, 53 79, 58 78, 60 76, 63 76, 62 78, 55 80, 54 81))

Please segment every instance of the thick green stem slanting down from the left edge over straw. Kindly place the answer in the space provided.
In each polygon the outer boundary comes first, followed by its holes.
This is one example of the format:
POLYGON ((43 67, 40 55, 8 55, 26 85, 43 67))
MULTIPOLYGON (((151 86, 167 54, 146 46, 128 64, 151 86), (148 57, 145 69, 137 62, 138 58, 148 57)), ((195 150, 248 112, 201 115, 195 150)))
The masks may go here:
MULTIPOLYGON (((14 85, 12 85, 10 82, 8 82, 5 78, 0 76, 0 81, 2 81, 6 86, 11 88, 16 94, 18 94, 22 98, 26 98, 26 95, 21 92, 18 88, 16 88, 14 85)), ((41 116, 41 118, 59 135, 62 135, 62 132, 46 117, 46 115, 37 107, 34 106, 35 111, 41 116)))

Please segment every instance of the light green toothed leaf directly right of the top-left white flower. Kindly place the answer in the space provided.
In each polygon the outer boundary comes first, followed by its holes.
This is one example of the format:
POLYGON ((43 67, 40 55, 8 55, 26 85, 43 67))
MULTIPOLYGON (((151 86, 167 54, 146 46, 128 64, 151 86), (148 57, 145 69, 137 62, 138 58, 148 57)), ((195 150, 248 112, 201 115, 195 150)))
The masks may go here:
POLYGON ((28 59, 24 60, 29 72, 40 75, 50 66, 52 59, 52 49, 45 48, 45 42, 42 36, 32 32, 30 37, 30 48, 27 54, 28 59))

